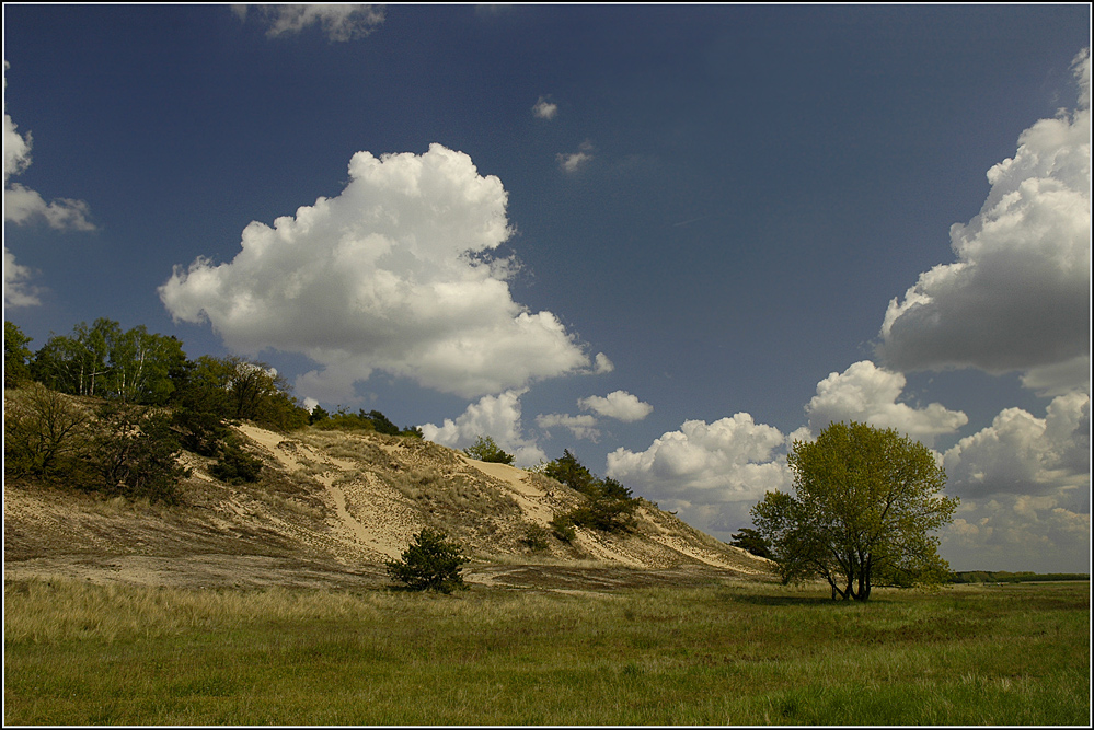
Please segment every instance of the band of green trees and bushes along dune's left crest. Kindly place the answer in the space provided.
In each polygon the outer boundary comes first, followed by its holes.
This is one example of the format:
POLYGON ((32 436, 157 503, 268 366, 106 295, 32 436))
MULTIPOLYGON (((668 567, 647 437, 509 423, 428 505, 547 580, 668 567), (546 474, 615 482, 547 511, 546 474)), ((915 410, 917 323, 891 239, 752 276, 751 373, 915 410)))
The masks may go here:
POLYGON ((258 478, 262 461, 231 436, 243 420, 281 432, 309 420, 421 438, 382 413, 312 414, 267 364, 235 356, 186 358, 174 337, 143 326, 124 331, 99 318, 55 335, 32 352, 31 338, 4 322, 4 474, 88 491, 173 503, 183 450, 216 461, 228 484, 258 478))

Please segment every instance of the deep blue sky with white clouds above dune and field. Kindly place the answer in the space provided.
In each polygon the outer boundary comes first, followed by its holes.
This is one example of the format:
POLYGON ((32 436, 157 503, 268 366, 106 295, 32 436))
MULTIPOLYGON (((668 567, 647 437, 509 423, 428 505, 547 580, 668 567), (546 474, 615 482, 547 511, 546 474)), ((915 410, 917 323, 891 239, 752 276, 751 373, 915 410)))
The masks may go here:
POLYGON ((1087 5, 3 12, 32 348, 143 324, 724 540, 865 420, 954 568, 1089 569, 1087 5))

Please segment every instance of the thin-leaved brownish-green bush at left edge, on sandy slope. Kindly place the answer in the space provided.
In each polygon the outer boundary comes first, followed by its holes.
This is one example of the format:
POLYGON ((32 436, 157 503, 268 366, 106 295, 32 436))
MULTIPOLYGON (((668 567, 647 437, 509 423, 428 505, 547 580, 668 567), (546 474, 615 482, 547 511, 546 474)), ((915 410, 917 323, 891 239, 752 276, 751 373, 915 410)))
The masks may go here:
POLYGON ((41 383, 7 394, 4 473, 45 476, 83 452, 89 415, 41 383))

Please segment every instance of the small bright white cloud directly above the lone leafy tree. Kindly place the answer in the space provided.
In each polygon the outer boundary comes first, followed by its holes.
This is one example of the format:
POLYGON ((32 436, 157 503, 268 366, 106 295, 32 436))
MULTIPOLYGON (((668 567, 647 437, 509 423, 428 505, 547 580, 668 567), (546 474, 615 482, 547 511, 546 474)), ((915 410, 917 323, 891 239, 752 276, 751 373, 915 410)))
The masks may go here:
POLYGON ((806 413, 814 436, 829 424, 859 421, 875 428, 894 428, 926 445, 943 433, 953 433, 968 422, 960 410, 932 403, 913 408, 898 403, 907 380, 898 372, 876 367, 870 360, 855 362, 842 373, 831 373, 817 383, 817 395, 806 413))

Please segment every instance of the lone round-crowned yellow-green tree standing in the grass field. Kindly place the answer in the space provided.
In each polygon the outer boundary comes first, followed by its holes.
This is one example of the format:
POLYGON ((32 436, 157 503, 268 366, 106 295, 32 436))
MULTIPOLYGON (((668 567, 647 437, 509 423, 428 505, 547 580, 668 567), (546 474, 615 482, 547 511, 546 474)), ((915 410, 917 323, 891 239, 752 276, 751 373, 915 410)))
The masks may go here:
POLYGON ((832 424, 787 459, 793 496, 752 508, 783 581, 824 577, 832 598, 866 601, 875 581, 941 582, 948 565, 933 531, 953 520, 946 474, 930 449, 894 429, 832 424))

